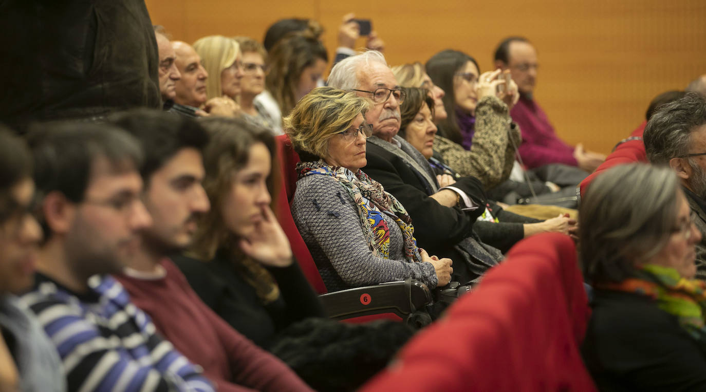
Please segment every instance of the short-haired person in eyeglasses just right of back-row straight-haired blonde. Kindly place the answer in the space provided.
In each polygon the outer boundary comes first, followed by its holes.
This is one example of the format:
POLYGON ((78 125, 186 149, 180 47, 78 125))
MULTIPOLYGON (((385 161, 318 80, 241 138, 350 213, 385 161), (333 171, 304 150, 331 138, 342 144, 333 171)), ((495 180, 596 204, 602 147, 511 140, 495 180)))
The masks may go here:
MULTIPOLYGON (((249 37, 235 37, 234 40, 240 45, 240 51, 243 59, 243 78, 240 80, 240 109, 247 119, 250 119, 255 124, 264 126, 266 129, 273 130, 275 119, 270 116, 261 102, 255 100, 255 97, 265 91, 265 76, 268 68, 267 52, 265 48, 249 37)), ((277 126, 280 131, 282 125, 281 120, 277 119, 277 126)), ((277 134, 281 134, 277 133, 277 134)))

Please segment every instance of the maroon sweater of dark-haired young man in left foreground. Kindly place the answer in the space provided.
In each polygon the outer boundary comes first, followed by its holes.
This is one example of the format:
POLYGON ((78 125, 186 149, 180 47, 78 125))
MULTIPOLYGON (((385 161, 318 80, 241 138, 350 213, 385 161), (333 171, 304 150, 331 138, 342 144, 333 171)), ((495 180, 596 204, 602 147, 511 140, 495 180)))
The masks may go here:
POLYGON ((169 259, 163 278, 116 278, 164 338, 191 362, 201 365, 218 391, 311 391, 277 357, 235 331, 198 298, 169 259))

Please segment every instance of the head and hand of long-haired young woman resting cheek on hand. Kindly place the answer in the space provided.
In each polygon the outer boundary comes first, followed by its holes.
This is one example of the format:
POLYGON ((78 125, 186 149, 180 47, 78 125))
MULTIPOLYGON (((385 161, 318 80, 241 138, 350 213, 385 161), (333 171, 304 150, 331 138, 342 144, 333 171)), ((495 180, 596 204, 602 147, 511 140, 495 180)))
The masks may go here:
POLYGON ((292 250, 270 208, 269 178, 274 139, 267 129, 244 119, 204 119, 210 141, 203 151, 203 181, 211 209, 203 215, 193 253, 212 260, 217 253, 241 263, 258 295, 277 297, 263 266, 292 264, 292 250))

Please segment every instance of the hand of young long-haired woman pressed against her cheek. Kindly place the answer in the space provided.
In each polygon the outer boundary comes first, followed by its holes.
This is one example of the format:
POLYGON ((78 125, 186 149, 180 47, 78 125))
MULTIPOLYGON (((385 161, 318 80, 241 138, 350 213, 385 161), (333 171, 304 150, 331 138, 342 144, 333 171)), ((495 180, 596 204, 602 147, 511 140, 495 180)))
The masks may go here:
POLYGON ((240 249, 248 256, 270 267, 292 265, 292 248, 270 206, 263 207, 263 219, 254 230, 240 239, 240 249))

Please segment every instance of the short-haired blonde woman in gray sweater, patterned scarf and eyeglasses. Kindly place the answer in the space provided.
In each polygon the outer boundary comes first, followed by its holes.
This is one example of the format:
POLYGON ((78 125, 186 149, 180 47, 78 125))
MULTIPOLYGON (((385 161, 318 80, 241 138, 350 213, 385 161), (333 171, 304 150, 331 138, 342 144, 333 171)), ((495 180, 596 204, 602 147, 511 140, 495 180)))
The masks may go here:
POLYGON ((417 248, 407 210, 364 172, 371 102, 330 87, 304 96, 284 119, 301 162, 292 216, 329 291, 414 278, 450 281, 450 259, 417 248))

